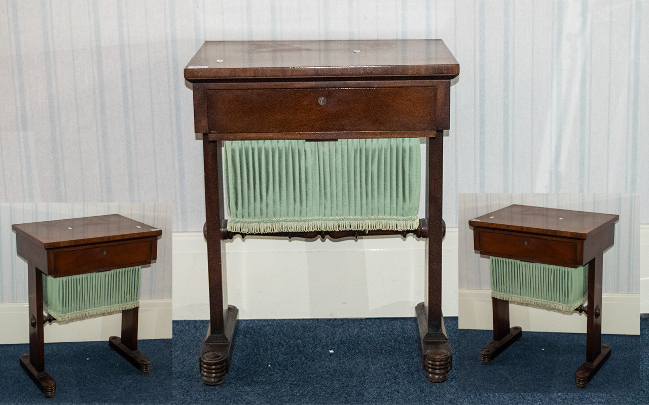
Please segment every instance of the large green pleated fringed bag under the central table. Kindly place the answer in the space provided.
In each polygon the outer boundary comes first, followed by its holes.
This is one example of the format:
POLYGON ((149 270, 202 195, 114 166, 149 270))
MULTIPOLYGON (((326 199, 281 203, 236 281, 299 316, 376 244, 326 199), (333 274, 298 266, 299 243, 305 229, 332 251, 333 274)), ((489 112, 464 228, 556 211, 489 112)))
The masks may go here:
POLYGON ((227 141, 228 231, 419 226, 419 139, 227 141))

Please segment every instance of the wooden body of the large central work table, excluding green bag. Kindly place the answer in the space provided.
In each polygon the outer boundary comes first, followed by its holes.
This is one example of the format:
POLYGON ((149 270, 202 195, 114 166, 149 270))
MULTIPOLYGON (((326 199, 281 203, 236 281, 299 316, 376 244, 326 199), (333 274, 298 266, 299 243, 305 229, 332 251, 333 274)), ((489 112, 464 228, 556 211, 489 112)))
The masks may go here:
MULTIPOLYGON (((221 141, 422 137, 426 139, 426 216, 413 231, 364 235, 426 238, 428 284, 415 308, 422 367, 443 382, 452 367, 441 313, 443 133, 451 80, 459 64, 441 40, 206 41, 184 70, 193 89, 194 126, 202 133, 210 329, 202 346, 204 384, 219 385, 230 367, 238 309, 227 303, 221 141)), ((265 235, 324 238, 358 231, 265 235)), ((363 233, 361 233, 363 234, 363 233)))

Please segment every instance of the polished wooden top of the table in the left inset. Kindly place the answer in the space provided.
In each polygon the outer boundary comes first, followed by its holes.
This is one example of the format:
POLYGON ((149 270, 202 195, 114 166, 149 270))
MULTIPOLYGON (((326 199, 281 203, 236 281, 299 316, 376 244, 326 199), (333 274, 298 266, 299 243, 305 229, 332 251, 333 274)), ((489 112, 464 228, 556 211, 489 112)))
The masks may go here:
POLYGON ((11 227, 44 249, 162 235, 160 229, 119 214, 30 222, 11 227))

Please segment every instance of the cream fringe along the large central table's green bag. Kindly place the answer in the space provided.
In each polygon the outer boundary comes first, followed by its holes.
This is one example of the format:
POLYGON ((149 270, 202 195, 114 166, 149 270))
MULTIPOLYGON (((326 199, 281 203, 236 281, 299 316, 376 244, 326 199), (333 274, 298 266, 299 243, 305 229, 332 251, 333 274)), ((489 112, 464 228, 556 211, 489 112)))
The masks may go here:
POLYGON ((237 220, 228 218, 228 231, 234 233, 277 233, 277 232, 310 232, 310 231, 373 231, 389 229, 394 231, 411 231, 419 227, 419 218, 409 219, 360 219, 345 220, 331 218, 308 220, 308 218, 278 218, 273 220, 237 220), (288 220, 286 220, 288 219, 288 220), (252 222, 256 221, 256 222, 252 222))

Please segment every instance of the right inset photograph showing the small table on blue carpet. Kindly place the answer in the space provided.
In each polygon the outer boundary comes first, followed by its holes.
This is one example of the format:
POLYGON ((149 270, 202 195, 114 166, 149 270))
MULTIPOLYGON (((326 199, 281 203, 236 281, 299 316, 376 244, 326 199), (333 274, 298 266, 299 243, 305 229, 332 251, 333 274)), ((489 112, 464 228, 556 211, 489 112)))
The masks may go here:
POLYGON ((467 391, 638 389, 636 198, 460 194, 467 391))

